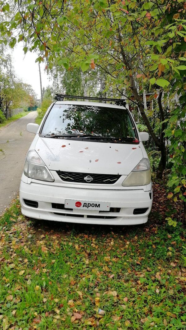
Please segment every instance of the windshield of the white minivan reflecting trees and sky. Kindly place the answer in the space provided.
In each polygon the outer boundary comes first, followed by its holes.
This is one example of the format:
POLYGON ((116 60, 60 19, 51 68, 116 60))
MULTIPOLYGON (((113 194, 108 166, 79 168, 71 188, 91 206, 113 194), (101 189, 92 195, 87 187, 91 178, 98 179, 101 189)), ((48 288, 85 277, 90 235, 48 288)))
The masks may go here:
POLYGON ((125 109, 54 104, 45 120, 41 134, 43 136, 91 135, 135 139, 135 128, 125 109))

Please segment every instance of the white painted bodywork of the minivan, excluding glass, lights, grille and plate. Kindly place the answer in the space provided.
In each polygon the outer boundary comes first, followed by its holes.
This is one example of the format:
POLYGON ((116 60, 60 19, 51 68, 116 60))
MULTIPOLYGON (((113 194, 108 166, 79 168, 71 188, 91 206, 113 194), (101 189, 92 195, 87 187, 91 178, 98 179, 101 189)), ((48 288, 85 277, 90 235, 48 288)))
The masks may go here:
MULTIPOLYGON (((116 110, 118 108, 124 109, 120 106, 96 102, 58 101, 55 104, 83 104, 109 107, 116 110)), ((22 213, 31 218, 62 222, 111 225, 145 223, 152 206, 151 182, 144 186, 122 186, 122 182, 139 161, 142 158, 148 158, 142 142, 137 144, 104 143, 40 137, 40 129, 52 106, 53 104, 47 110, 29 150, 36 150, 54 177, 54 182, 30 179, 23 174, 20 184, 22 213), (65 147, 62 147, 64 145, 65 147), (64 182, 56 171, 119 174, 121 177, 113 184, 64 182), (24 199, 37 201, 38 208, 26 205, 24 199), (52 203, 63 205, 65 199, 109 202, 110 208, 118 208, 120 211, 100 213, 100 211, 92 210, 55 210, 52 207, 52 203), (134 209, 138 208, 146 208, 147 210, 143 214, 134 215, 134 209)), ((138 132, 135 122, 134 126, 138 132)))

